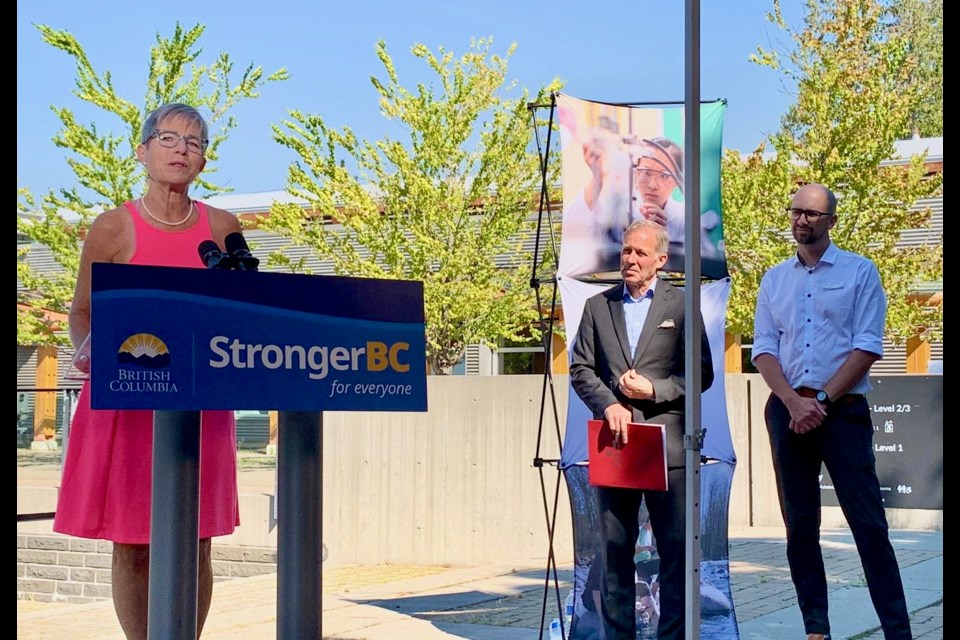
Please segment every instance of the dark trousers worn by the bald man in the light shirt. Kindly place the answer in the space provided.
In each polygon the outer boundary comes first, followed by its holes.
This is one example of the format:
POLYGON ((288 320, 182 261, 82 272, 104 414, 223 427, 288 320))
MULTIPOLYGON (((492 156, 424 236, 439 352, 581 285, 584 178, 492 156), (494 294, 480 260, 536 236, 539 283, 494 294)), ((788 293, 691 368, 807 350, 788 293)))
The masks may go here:
POLYGON ((834 403, 813 431, 790 430, 790 412, 771 394, 764 416, 770 434, 787 561, 806 633, 829 633, 827 578, 820 551, 820 466, 826 465, 857 544, 870 598, 887 640, 912 638, 897 557, 890 544, 873 455, 867 401, 834 403))

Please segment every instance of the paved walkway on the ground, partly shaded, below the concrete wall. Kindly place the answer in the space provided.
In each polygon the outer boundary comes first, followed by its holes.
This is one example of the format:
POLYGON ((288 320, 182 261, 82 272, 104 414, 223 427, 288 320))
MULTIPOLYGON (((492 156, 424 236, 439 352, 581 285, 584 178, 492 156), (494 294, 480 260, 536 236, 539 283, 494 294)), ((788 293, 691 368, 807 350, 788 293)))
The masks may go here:
MULTIPOLYGON (((894 531, 917 640, 942 640, 943 533, 894 531)), ((882 640, 860 561, 848 531, 825 531, 835 640, 882 640)), ((731 588, 743 640, 803 638, 786 569, 782 529, 730 536, 731 588)), ((570 588, 570 567, 558 574, 570 588)), ((542 618, 557 615, 555 592, 544 610, 543 567, 325 565, 323 637, 330 640, 536 640, 542 618)), ((204 640, 276 638, 276 575, 218 583, 204 640)), ((544 632, 544 639, 547 637, 544 632)), ((110 602, 17 602, 20 640, 122 640, 110 602)), ((704 638, 704 640, 710 640, 704 638)))

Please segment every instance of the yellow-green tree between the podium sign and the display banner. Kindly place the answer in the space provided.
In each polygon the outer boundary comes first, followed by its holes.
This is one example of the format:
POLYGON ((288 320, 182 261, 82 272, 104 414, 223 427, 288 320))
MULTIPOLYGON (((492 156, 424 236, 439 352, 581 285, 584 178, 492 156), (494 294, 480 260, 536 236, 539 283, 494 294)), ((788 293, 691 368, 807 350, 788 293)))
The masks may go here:
MULTIPOLYGON (((274 127, 299 156, 288 191, 309 208, 274 205, 261 228, 312 248, 341 275, 423 281, 433 373, 448 373, 467 344, 518 339, 539 317, 518 245, 540 187, 529 95, 507 79, 515 45, 505 56, 491 46, 471 41, 456 57, 414 45, 432 82, 411 90, 377 43, 385 77, 371 81, 404 139, 362 140, 302 111, 274 127), (505 254, 512 265, 498 263, 505 254)), ((279 253, 270 259, 296 266, 279 253)))

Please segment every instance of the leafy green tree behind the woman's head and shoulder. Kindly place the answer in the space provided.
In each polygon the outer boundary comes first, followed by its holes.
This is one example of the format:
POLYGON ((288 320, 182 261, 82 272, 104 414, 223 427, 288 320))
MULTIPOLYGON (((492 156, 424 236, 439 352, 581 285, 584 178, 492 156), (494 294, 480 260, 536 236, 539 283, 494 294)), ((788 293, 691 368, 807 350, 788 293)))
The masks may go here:
MULTIPOLYGON (((40 272, 28 261, 28 247, 17 251, 17 344, 66 344, 55 333, 53 314, 66 314, 80 264, 80 243, 93 218, 120 206, 141 190, 146 179, 134 150, 140 128, 150 111, 168 102, 182 102, 204 113, 211 128, 204 176, 216 172, 217 149, 236 127, 230 110, 241 100, 256 98, 269 82, 287 78, 285 69, 264 77, 263 69, 249 65, 234 78, 233 61, 226 53, 199 64, 197 46, 205 27, 183 29, 178 23, 170 38, 159 34, 150 49, 146 93, 134 102, 117 94, 109 71, 98 72, 83 47, 68 31, 38 25, 44 42, 76 64, 74 95, 95 105, 109 122, 83 124, 68 107, 51 107, 63 128, 53 143, 67 153, 76 184, 50 190, 37 201, 28 189, 17 188, 17 232, 50 249, 60 269, 40 272), (121 133, 110 133, 119 130, 121 133), (70 218, 70 219, 68 219, 70 218)), ((208 194, 227 191, 201 176, 197 184, 208 194)))

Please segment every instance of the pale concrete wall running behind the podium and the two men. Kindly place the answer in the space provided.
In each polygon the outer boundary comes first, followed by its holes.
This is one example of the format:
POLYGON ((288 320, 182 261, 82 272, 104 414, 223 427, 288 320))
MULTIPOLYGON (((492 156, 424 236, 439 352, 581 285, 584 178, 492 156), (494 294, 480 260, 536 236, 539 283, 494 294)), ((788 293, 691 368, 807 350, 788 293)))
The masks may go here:
MULTIPOLYGON (((727 375, 726 388, 738 458, 730 526, 782 526, 763 424, 769 391, 755 374, 727 375)), ((553 389, 559 422, 548 389, 542 429, 540 376, 430 377, 427 413, 325 414, 323 538, 331 560, 546 566, 546 513, 554 504, 554 549, 559 559, 572 558, 566 487, 555 465, 538 468, 533 463, 535 457, 559 457, 566 376, 556 376, 553 389)), ((18 513, 52 511, 55 504, 55 488, 18 487, 18 513)), ((243 524, 233 535, 215 540, 215 553, 218 548, 229 550, 224 553, 235 558, 230 561, 243 562, 236 549, 275 549, 273 508, 272 495, 242 495, 243 524)), ((887 517, 893 528, 943 528, 942 511, 888 509, 887 517)), ((823 523, 845 526, 837 507, 824 509, 823 523)), ((49 532, 49 522, 17 526, 18 585, 21 549, 33 549, 30 538, 23 538, 20 546, 21 536, 49 532)), ((47 546, 61 544, 37 540, 47 546)), ((74 551, 69 544, 64 550, 36 549, 74 551)), ((45 558, 51 566, 69 566, 58 564, 54 556, 45 558)), ((39 578, 26 573, 24 578, 39 578)))

